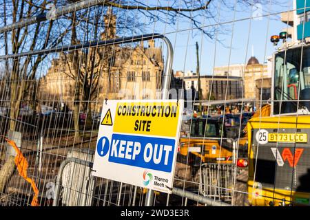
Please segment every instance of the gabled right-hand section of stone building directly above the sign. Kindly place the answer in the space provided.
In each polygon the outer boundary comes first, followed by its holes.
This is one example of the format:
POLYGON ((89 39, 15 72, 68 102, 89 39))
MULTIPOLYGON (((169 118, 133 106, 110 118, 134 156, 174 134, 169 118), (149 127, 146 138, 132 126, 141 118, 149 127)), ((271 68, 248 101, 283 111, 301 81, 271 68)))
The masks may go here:
POLYGON ((107 80, 103 78, 103 84, 107 83, 109 88, 107 98, 156 98, 157 89, 161 89, 162 73, 162 51, 155 47, 154 41, 148 41, 148 47, 143 43, 136 47, 118 47, 107 80))

